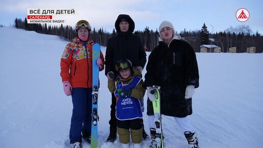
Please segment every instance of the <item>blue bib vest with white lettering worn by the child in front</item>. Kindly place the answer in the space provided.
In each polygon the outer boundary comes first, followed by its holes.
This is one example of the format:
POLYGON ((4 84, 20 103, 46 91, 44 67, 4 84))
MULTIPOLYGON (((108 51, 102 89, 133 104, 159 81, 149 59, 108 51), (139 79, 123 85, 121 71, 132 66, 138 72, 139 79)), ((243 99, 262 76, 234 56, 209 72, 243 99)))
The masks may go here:
POLYGON ((141 104, 138 98, 131 96, 119 97, 118 92, 122 89, 136 88, 141 81, 140 77, 135 76, 133 81, 129 84, 123 85, 122 82, 117 82, 115 96, 116 96, 116 118, 118 120, 130 120, 142 118, 141 104))

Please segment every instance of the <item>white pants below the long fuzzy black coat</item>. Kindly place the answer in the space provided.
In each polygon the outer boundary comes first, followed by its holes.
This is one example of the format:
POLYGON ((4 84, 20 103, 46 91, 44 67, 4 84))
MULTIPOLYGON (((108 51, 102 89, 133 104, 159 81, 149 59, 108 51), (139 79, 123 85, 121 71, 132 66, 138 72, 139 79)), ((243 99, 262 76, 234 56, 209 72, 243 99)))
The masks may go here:
MULTIPOLYGON (((188 117, 183 117, 183 118, 173 117, 173 118, 183 134, 185 132, 191 132, 191 133, 195 132, 194 126, 192 125, 188 117)), ((154 123, 154 115, 148 116, 148 122, 149 122, 149 128, 156 129, 154 123)))

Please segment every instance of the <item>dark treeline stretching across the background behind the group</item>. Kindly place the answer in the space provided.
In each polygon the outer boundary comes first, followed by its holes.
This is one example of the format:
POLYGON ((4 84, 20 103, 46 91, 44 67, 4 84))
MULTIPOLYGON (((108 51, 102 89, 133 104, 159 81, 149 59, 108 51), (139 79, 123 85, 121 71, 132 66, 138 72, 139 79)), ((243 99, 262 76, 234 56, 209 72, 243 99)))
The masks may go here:
MULTIPOLYGON (((24 20, 15 19, 15 27, 18 29, 25 29, 29 31, 36 31, 37 33, 58 35, 64 40, 70 41, 75 37, 74 28, 71 26, 50 26, 45 24, 28 23, 27 18, 24 20)), ((178 33, 178 32, 177 32, 178 33)), ((142 43, 150 52, 158 44, 159 33, 146 27, 143 31, 135 31, 135 35, 141 37, 142 43)), ((230 27, 224 32, 209 33, 204 23, 200 31, 181 31, 178 33, 183 40, 189 42, 195 52, 200 52, 200 45, 214 44, 221 47, 221 52, 227 53, 230 47, 236 47, 236 53, 247 52, 247 47, 256 47, 256 53, 263 52, 263 36, 260 34, 252 34, 248 26, 239 26, 236 28, 230 27)), ((91 32, 91 37, 94 42, 100 43, 102 46, 107 45, 109 38, 116 36, 116 31, 113 29, 112 33, 104 32, 103 28, 91 32)))

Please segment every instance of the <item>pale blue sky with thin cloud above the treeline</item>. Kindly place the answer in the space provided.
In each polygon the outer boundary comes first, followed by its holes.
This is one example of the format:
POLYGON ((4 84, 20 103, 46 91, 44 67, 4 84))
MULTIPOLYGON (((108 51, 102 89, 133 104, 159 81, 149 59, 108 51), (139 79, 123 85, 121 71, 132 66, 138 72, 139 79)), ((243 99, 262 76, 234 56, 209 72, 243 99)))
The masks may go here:
MULTIPOLYGON (((9 26, 14 19, 24 20, 28 9, 67 9, 76 10, 76 15, 55 15, 56 19, 64 20, 63 26, 74 27, 80 19, 86 19, 96 30, 112 32, 119 14, 128 14, 135 21, 135 30, 149 27, 155 31, 163 20, 173 23, 177 32, 201 30, 203 23, 209 32, 220 32, 231 27, 247 25, 253 33, 263 34, 263 1, 262 0, 0 0, 0 24, 9 26), (235 13, 246 8, 250 17, 246 22, 236 19, 235 13), (213 29, 214 27, 214 29, 213 29)), ((57 23, 60 26, 61 23, 57 23)))

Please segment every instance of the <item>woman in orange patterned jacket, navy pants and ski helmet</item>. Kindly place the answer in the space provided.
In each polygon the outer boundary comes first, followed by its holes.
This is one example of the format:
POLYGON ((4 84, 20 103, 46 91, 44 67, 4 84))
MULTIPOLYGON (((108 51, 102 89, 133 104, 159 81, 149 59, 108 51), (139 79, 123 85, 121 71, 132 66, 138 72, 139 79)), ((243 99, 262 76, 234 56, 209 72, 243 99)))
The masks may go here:
MULTIPOLYGON (((81 147, 82 138, 90 143, 92 108, 92 46, 88 21, 76 23, 75 37, 66 45, 61 57, 62 82, 66 95, 72 97, 72 117, 69 139, 72 147, 81 147)), ((104 57, 97 59, 99 71, 104 69, 104 57)))

